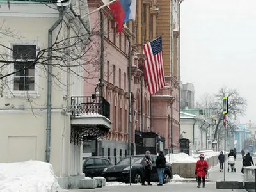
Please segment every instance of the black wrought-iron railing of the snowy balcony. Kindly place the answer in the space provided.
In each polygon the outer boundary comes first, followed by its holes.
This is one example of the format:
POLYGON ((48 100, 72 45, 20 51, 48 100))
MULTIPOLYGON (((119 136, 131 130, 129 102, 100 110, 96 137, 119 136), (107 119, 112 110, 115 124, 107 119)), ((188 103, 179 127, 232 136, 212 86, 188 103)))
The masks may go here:
POLYGON ((104 97, 95 96, 71 97, 71 111, 73 116, 102 115, 110 118, 110 104, 104 97))

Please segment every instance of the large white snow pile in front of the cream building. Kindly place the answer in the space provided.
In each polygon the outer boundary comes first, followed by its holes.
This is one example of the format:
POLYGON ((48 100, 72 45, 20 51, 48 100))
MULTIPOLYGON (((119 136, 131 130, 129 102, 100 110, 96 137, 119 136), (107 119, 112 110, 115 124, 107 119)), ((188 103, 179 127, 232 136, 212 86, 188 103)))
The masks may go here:
POLYGON ((42 161, 0 163, 0 191, 56 192, 61 188, 52 165, 42 161))

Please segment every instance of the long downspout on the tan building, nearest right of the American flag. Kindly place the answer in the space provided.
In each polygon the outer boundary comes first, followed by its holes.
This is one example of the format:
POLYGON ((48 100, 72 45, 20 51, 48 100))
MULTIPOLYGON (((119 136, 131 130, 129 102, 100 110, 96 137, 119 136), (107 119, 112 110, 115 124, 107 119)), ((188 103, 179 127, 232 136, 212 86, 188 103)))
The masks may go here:
MULTIPOLYGON (((171 92, 173 95, 173 3, 171 4, 171 92)), ((173 104, 171 107, 171 149, 173 153, 173 104)))

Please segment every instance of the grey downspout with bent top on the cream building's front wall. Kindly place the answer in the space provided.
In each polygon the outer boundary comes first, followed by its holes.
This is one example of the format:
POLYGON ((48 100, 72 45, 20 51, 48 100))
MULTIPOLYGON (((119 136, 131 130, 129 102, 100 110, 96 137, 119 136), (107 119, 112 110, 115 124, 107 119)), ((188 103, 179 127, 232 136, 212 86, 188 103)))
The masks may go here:
POLYGON ((48 72, 47 72, 47 127, 46 127, 46 162, 50 162, 51 153, 51 108, 52 108, 52 31, 61 24, 65 8, 60 8, 59 19, 48 30, 48 72))

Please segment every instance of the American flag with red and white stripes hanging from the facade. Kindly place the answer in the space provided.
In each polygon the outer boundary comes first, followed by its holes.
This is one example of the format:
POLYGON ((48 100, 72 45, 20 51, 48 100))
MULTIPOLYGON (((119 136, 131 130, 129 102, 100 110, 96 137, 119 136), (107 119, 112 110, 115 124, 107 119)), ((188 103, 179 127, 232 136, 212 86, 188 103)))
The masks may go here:
POLYGON ((147 56, 144 63, 145 76, 147 78, 150 95, 158 92, 165 86, 164 64, 162 54, 162 37, 143 45, 143 53, 147 56))

